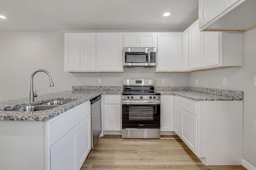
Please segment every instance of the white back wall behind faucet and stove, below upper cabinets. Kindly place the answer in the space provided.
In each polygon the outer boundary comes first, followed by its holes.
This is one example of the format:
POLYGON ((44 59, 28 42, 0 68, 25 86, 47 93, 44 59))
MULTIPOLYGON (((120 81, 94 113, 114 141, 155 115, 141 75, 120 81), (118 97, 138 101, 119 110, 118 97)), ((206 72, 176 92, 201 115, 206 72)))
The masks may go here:
POLYGON ((189 84, 189 73, 154 73, 153 68, 127 68, 123 73, 64 72, 64 32, 0 32, 0 101, 28 97, 30 75, 37 69, 48 70, 54 82, 54 87, 49 87, 48 76, 36 73, 34 89, 38 95, 71 90, 72 85, 122 86, 124 78, 154 78, 156 86, 189 84), (166 84, 161 84, 161 79, 166 84))

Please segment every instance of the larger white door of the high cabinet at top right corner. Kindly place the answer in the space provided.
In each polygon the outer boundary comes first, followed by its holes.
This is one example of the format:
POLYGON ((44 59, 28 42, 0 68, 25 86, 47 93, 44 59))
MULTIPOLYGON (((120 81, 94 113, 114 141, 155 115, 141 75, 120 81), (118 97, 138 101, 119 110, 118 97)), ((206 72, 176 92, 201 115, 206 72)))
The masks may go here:
POLYGON ((201 28, 225 12, 224 0, 199 0, 199 27, 201 28))

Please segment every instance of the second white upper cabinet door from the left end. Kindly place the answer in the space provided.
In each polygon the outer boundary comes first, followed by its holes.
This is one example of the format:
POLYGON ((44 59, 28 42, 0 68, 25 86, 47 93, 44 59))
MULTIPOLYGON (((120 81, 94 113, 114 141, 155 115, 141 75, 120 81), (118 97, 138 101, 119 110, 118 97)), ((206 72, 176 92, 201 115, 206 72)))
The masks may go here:
POLYGON ((81 33, 81 71, 96 71, 96 33, 81 33))

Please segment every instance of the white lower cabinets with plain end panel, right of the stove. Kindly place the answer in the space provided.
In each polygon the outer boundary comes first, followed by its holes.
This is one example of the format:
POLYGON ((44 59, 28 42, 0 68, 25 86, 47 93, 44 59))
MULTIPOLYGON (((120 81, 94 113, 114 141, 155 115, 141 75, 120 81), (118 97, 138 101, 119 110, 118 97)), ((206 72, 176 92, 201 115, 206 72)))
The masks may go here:
POLYGON ((174 132, 205 165, 240 165, 243 101, 194 101, 174 96, 174 132))

